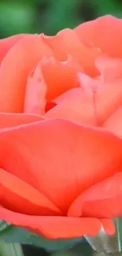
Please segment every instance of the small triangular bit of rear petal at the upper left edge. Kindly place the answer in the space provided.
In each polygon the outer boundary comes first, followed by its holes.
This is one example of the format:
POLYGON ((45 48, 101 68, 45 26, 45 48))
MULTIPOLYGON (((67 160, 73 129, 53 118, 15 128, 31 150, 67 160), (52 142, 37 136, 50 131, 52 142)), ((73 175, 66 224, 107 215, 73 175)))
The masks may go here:
POLYGON ((0 63, 11 47, 26 35, 13 35, 6 39, 0 39, 0 63))

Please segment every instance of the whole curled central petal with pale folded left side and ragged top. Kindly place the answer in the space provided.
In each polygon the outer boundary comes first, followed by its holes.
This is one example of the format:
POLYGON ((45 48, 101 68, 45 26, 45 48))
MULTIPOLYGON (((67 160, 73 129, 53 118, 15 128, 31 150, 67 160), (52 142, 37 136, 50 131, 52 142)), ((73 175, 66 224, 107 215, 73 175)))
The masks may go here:
POLYGON ((72 59, 65 62, 57 61, 54 57, 43 58, 28 80, 26 88, 24 112, 43 114, 46 103, 73 87, 79 87, 77 72, 79 65, 72 65, 72 59))

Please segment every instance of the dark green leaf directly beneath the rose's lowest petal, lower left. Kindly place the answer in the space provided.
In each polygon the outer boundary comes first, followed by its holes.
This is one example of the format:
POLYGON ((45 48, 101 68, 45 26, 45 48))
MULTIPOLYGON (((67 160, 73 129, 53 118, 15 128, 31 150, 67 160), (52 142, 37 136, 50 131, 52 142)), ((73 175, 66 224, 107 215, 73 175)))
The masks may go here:
POLYGON ((42 247, 45 250, 55 251, 73 247, 82 239, 46 239, 43 236, 36 236, 24 228, 18 228, 10 224, 0 232, 0 240, 7 243, 22 243, 42 247))

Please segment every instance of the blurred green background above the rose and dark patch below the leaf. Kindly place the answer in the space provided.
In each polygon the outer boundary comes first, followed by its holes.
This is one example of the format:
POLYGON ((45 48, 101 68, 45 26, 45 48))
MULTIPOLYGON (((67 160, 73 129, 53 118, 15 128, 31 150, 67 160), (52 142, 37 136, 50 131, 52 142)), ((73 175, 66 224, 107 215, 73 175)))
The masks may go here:
MULTIPOLYGON (((55 35, 63 28, 74 28, 79 23, 108 13, 122 17, 122 0, 1 0, 0 38, 18 33, 55 35)), ((54 254, 25 246, 24 254, 88 256, 92 251, 84 242, 71 250, 54 254)))

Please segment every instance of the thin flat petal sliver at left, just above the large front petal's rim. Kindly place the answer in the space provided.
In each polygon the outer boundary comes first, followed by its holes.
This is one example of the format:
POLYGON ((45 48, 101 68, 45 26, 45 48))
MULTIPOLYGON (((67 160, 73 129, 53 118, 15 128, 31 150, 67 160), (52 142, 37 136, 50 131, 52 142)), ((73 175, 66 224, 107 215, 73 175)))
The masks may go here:
POLYGON ((41 121, 43 118, 37 115, 24 113, 0 113, 0 130, 3 128, 13 128, 21 124, 29 124, 41 121))

